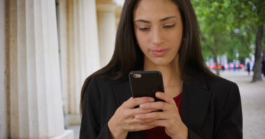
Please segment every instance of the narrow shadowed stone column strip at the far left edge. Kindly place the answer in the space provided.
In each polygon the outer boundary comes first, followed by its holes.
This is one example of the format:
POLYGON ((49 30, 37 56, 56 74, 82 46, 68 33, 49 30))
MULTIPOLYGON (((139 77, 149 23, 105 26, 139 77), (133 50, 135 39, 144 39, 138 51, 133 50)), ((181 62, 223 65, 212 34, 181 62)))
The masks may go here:
POLYGON ((6 3, 0 0, 0 138, 8 136, 6 101, 6 3))

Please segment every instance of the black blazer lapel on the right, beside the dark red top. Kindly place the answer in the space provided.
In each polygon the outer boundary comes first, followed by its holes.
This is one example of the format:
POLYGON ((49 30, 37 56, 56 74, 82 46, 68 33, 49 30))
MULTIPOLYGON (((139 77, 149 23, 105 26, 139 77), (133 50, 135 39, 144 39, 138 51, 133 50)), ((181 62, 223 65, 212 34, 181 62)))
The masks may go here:
POLYGON ((190 129, 199 129, 206 117, 211 99, 203 76, 194 85, 183 83, 181 119, 190 129))

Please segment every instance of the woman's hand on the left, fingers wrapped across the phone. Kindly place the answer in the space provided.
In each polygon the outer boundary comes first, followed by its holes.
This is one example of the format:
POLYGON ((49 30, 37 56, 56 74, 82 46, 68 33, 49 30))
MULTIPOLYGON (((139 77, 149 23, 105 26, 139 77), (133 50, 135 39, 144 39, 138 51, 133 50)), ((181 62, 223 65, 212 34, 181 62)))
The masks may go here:
POLYGON ((152 129, 153 126, 145 125, 140 120, 135 119, 135 115, 150 113, 158 110, 144 110, 139 107, 135 108, 135 106, 153 101, 154 99, 152 97, 130 97, 130 99, 124 101, 108 122, 110 136, 112 138, 126 138, 129 131, 152 129))

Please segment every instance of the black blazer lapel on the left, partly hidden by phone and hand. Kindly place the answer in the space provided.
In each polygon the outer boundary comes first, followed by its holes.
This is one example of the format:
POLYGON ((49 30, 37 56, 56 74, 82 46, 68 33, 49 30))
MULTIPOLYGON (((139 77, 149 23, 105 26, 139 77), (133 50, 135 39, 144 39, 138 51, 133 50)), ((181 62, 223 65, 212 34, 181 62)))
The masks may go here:
MULTIPOLYGON (((117 81, 113 85, 114 95, 116 98, 117 106, 121 106, 124 101, 127 101, 132 97, 132 92, 130 90, 130 82, 128 79, 123 81, 117 81)), ((142 131, 129 132, 127 138, 139 138, 142 139, 142 131)))

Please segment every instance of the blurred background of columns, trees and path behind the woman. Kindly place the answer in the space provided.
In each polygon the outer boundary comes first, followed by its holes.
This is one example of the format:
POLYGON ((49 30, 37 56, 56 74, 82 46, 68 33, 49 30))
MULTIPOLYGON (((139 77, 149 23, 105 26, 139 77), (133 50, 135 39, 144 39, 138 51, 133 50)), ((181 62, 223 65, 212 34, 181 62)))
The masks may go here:
MULTIPOLYGON (((123 0, 0 0, 0 138, 79 138, 82 83, 114 51, 123 0)), ((202 53, 265 136, 265 1, 191 0, 202 53)))

